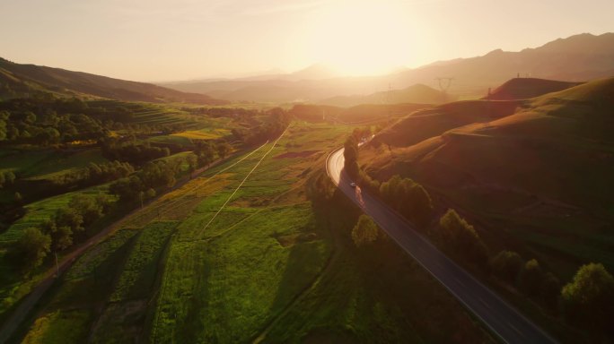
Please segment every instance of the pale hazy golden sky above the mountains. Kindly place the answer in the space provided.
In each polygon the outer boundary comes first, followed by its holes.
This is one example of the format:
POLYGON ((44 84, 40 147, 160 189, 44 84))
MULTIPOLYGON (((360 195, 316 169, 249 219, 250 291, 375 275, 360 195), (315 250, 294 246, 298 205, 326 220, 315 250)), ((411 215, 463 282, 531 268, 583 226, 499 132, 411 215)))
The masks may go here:
POLYGON ((138 81, 382 73, 614 31, 613 0, 0 0, 0 56, 138 81))

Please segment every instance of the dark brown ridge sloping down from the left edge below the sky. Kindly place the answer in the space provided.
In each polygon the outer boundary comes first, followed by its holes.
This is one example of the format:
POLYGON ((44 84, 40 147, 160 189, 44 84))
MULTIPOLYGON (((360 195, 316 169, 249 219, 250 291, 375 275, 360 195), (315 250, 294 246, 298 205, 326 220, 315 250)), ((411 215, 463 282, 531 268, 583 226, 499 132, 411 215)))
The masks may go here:
POLYGON ((185 93, 151 83, 128 82, 34 64, 15 64, 0 58, 0 98, 23 97, 40 92, 123 101, 225 103, 204 94, 185 93))

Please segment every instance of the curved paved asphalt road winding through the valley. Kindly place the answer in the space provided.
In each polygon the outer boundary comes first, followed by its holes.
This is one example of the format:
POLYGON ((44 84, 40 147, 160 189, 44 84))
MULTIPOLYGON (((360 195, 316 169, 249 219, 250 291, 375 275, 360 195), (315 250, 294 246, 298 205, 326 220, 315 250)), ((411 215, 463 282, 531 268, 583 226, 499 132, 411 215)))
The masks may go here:
POLYGON ((409 255, 429 271, 469 311, 478 316, 505 343, 556 343, 511 305, 452 262, 406 220, 380 200, 359 188, 343 171, 343 149, 329 155, 326 170, 338 188, 388 233, 409 255))

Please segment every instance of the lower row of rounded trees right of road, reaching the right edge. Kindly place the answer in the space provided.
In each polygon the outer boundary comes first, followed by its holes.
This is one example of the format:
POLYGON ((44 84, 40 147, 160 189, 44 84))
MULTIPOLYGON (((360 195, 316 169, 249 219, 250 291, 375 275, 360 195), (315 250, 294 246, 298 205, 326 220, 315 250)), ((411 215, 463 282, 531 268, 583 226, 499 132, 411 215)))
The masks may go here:
POLYGON ((545 271, 536 259, 524 261, 508 250, 489 259, 478 232, 453 210, 442 216, 434 238, 448 254, 503 280, 550 310, 563 312, 569 323, 614 334, 614 277, 602 264, 583 265, 574 280, 561 288, 557 276, 545 271))

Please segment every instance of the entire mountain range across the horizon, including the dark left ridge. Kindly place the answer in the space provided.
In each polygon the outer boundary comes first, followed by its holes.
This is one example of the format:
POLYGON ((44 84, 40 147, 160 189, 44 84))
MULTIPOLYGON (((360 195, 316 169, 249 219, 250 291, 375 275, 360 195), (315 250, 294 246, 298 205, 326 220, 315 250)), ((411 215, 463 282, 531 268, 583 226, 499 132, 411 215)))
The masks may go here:
MULTIPOLYGON (((342 107, 365 103, 439 104, 457 97, 487 97, 493 86, 513 77, 564 80, 577 84, 612 75, 614 33, 600 36, 584 33, 518 52, 497 49, 484 56, 439 61, 416 69, 365 77, 342 77, 325 64, 313 64, 294 73, 155 85, 34 64, 16 64, 0 58, 0 99, 52 93, 204 105, 228 102, 303 102, 342 107)), ((546 90, 554 87, 552 90, 557 90, 557 87, 566 85, 572 84, 549 82, 535 87, 546 90)), ((495 90, 491 97, 504 99, 506 96, 495 90)))

